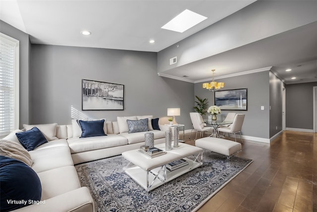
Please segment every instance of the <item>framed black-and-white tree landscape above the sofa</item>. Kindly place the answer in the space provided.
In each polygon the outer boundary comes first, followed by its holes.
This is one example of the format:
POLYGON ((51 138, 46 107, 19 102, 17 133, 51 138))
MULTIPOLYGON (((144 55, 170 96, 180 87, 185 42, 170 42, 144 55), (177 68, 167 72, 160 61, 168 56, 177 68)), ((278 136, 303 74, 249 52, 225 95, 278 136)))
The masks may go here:
POLYGON ((82 110, 123 110, 124 85, 82 79, 82 110))

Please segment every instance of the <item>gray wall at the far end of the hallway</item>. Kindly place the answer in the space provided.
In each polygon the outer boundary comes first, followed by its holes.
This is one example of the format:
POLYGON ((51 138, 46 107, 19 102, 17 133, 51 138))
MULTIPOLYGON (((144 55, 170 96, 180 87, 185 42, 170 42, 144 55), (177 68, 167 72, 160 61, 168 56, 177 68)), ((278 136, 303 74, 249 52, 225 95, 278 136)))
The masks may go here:
POLYGON ((286 127, 313 130, 313 87, 317 82, 286 85, 286 127))

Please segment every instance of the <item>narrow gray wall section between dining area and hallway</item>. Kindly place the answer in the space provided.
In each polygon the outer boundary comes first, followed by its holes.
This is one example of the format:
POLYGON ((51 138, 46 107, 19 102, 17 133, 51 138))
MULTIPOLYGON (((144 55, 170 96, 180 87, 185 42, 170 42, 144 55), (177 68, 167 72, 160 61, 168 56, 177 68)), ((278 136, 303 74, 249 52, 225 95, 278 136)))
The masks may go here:
POLYGON ((282 130, 283 82, 269 72, 269 137, 282 130))

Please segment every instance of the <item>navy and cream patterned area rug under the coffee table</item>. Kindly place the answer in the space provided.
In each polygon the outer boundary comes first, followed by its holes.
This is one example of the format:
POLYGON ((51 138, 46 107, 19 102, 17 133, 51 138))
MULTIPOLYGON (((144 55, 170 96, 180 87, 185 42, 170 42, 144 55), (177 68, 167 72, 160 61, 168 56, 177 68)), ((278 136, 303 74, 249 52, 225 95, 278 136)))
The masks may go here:
POLYGON ((191 212, 199 209, 252 160, 204 153, 204 166, 151 192, 122 170, 122 156, 76 165, 82 186, 89 188, 97 212, 191 212))

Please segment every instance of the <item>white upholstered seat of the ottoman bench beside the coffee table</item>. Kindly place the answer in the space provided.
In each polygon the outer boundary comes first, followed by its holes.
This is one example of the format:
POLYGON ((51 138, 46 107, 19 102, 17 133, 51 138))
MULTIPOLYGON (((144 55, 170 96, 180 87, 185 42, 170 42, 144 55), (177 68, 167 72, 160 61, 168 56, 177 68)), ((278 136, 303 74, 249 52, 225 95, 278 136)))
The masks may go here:
POLYGON ((197 139, 195 145, 209 151, 227 155, 228 157, 241 151, 241 143, 211 137, 197 139))

